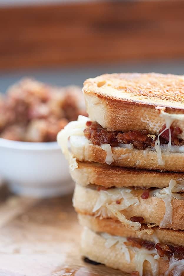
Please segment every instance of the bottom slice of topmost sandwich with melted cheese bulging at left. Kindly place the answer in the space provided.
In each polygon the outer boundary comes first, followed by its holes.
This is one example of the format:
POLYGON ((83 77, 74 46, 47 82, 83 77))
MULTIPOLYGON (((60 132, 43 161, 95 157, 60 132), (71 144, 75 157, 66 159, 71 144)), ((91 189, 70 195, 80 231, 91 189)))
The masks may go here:
MULTIPOLYGON (((165 149, 159 146, 155 151, 155 148, 142 150, 127 144, 112 148, 110 144, 95 145, 84 136, 87 121, 87 117, 79 116, 77 121, 70 122, 57 135, 64 155, 72 162, 77 159, 128 168, 184 172, 184 146, 172 146, 174 148, 170 148, 169 152, 163 152, 165 149)), ((72 167, 77 166, 73 162, 72 167)))

